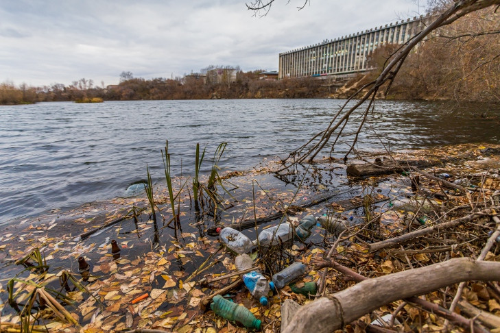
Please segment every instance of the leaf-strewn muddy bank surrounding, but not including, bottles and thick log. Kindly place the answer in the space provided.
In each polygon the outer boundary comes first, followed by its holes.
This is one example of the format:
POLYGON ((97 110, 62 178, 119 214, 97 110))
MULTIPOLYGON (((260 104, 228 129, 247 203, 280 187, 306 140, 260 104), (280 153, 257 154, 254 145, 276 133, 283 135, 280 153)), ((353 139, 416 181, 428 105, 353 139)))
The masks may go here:
MULTIPOLYGON (((471 202, 475 203, 480 202, 478 198, 481 199, 478 189, 484 189, 485 199, 500 190, 498 149, 499 147, 491 145, 467 145, 437 151, 398 153, 394 157, 430 160, 436 156, 449 156, 451 162, 442 162, 423 170, 433 175, 447 173, 450 176, 447 180, 451 182, 466 179, 468 184, 464 182, 464 185, 468 185, 466 188, 471 202)), ((366 159, 374 162, 375 157, 377 156, 370 154, 366 159)), ((210 206, 207 202, 199 212, 194 209, 192 192, 184 190, 180 200, 176 201, 176 209, 180 211, 180 230, 172 229, 172 225, 167 226, 171 219, 171 208, 163 186, 154 188, 158 208, 156 224, 151 219, 147 199, 142 195, 88 204, 69 212, 55 212, 21 221, 18 225, 9 225, 0 233, 1 323, 21 323, 18 312, 8 301, 8 281, 16 277, 19 280, 15 281, 12 288, 14 292, 20 292, 14 293, 14 303, 25 304, 34 290, 31 284, 22 281, 32 281, 39 286, 48 282, 45 286, 47 290, 53 289, 73 299, 73 306, 66 308, 78 321, 80 328, 67 323, 68 319, 57 319, 47 306, 38 307, 39 304, 34 302, 31 311, 38 318, 36 325, 45 323, 51 331, 65 329, 70 332, 110 332, 157 328, 176 332, 245 332, 241 326, 229 323, 211 310, 205 311, 200 307, 204 297, 239 279, 230 277, 206 284, 213 277, 235 271, 235 256, 221 248, 219 240, 206 232, 214 225, 251 221, 280 212, 287 212, 285 219, 289 219, 291 223, 297 223, 307 214, 327 214, 348 225, 348 231, 352 233, 348 238, 344 237, 348 234, 342 236, 343 240, 337 243, 335 254, 331 258, 366 277, 427 266, 456 256, 472 256, 475 251, 481 250, 491 230, 488 221, 481 224, 481 221, 475 220, 449 231, 444 238, 442 234, 432 234, 409 245, 403 243, 403 249, 398 245, 370 252, 371 244, 433 225, 443 219, 442 212, 446 212, 446 219, 466 215, 471 210, 463 207, 467 206, 468 197, 422 175, 418 184, 420 192, 416 193, 412 191, 409 177, 417 175, 416 171, 410 171, 409 175, 391 172, 376 177, 347 177, 346 165, 340 161, 320 160, 276 177, 272 171, 277 167, 277 164, 270 163, 253 171, 230 173, 225 177, 224 186, 231 196, 219 188, 223 199, 217 206, 210 206), (289 210, 291 206, 300 208, 325 193, 331 193, 332 197, 316 206, 293 212, 289 210), (368 206, 364 201, 367 196, 373 199, 368 206), (424 197, 428 197, 431 203, 425 201, 424 197), (381 201, 375 204, 377 199, 381 201), (132 207, 138 208, 136 219, 133 214, 128 214, 132 207), (139 212, 142 208, 144 210, 139 212), (366 222, 373 220, 373 217, 377 217, 377 223, 366 226, 366 222), (79 237, 113 221, 118 222, 100 229, 88 238, 79 237), (117 240, 121 248, 119 257, 111 253, 112 239, 117 240), (47 267, 43 271, 40 271, 40 267, 36 268, 33 258, 31 262, 35 267, 14 264, 34 248, 38 248, 45 258, 47 267), (65 291, 59 281, 61 271, 68 271, 76 280, 82 280, 77 262, 80 256, 91 264, 91 276, 83 282, 86 290, 75 288, 69 282, 71 290, 65 291), (147 296, 134 301, 142 295, 147 296)), ((181 186, 177 180, 174 184, 174 193, 177 193, 181 186)), ((259 225, 258 230, 276 225, 279 221, 278 218, 259 225)), ((251 239, 257 236, 255 228, 243 233, 251 239)), ((267 277, 291 262, 303 262, 307 264, 308 271, 302 280, 298 280, 298 284, 317 282, 325 293, 333 294, 353 285, 352 281, 344 279, 336 271, 330 270, 323 277, 322 270, 318 269, 318 264, 324 262, 325 255, 336 240, 336 234, 317 225, 304 243, 283 244, 273 251, 258 249, 253 257, 267 277)), ((498 251, 498 246, 493 247, 488 258, 497 260, 498 251)), ((445 297, 432 294, 428 298, 431 301, 444 299, 449 303, 455 288, 456 286, 451 286, 445 297)), ((465 293, 469 301, 475 299, 472 301, 473 305, 494 315, 497 313, 496 298, 493 295, 495 292, 486 284, 467 286, 465 293)), ((280 306, 285 299, 294 299, 300 304, 314 299, 291 292, 289 286, 270 296, 269 306, 259 305, 246 288, 241 286, 229 295, 233 301, 243 304, 263 321, 262 328, 265 332, 279 330, 280 306)), ((374 317, 394 312, 400 304, 385 305, 361 320, 370 323, 374 317)), ((23 306, 19 306, 20 311, 21 309, 23 306)), ((399 324, 394 324, 394 328, 427 330, 443 324, 440 317, 413 306, 401 306, 399 311, 399 324)), ((354 325, 352 323, 350 327, 354 329, 354 325)))

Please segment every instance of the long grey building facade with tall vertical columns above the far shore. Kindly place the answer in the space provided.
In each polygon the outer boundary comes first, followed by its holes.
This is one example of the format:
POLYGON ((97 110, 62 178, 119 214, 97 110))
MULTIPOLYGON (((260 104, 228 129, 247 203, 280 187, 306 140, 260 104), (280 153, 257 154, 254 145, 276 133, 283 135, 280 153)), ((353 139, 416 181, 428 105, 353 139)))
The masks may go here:
POLYGON ((316 45, 279 54, 279 78, 347 76, 370 70, 368 55, 384 44, 403 44, 420 32, 429 16, 408 18, 316 45))

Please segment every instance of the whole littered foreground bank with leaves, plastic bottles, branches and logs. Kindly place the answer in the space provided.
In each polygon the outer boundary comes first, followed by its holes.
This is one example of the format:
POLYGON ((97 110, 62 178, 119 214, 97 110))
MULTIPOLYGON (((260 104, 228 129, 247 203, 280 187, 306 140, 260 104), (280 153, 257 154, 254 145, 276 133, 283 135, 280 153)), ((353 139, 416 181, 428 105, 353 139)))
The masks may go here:
POLYGON ((292 190, 271 185, 271 169, 233 173, 233 197, 210 210, 178 195, 172 228, 167 195, 158 221, 144 198, 123 199, 138 210, 115 209, 108 224, 79 210, 69 234, 57 231, 64 221, 25 221, 0 234, 1 332, 500 332, 499 152, 448 147, 427 169, 372 156, 357 170, 377 175, 346 183, 333 180, 346 167, 324 160, 285 176, 292 190), (479 269, 454 268, 468 262, 479 269), (496 277, 480 275, 483 262, 496 277), (366 294, 349 296, 353 286, 366 294), (314 304, 331 313, 324 322, 314 304), (345 312, 338 326, 332 304, 345 312))

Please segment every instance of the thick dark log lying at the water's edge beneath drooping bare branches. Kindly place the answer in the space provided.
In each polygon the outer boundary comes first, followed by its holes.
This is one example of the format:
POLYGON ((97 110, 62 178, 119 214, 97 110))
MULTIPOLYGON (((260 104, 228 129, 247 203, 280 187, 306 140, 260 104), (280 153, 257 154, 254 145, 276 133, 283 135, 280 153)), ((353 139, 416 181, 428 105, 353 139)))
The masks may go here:
POLYGON ((389 173, 401 173, 412 169, 411 167, 428 168, 441 164, 442 161, 425 161, 425 160, 409 160, 409 161, 384 161, 379 164, 364 163, 350 164, 347 167, 347 175, 355 177, 364 177, 369 175, 388 175, 389 173))

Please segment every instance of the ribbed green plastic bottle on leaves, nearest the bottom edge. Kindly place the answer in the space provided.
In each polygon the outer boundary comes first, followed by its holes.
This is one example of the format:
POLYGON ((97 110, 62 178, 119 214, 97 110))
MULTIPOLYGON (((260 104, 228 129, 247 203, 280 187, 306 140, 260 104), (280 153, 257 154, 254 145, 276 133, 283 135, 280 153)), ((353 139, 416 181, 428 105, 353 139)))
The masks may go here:
POLYGON ((248 308, 239 306, 232 301, 228 301, 221 295, 215 295, 213 297, 210 308, 213 312, 228 319, 229 321, 238 321, 246 328, 257 328, 257 330, 261 329, 261 321, 255 318, 254 314, 250 312, 248 308))

